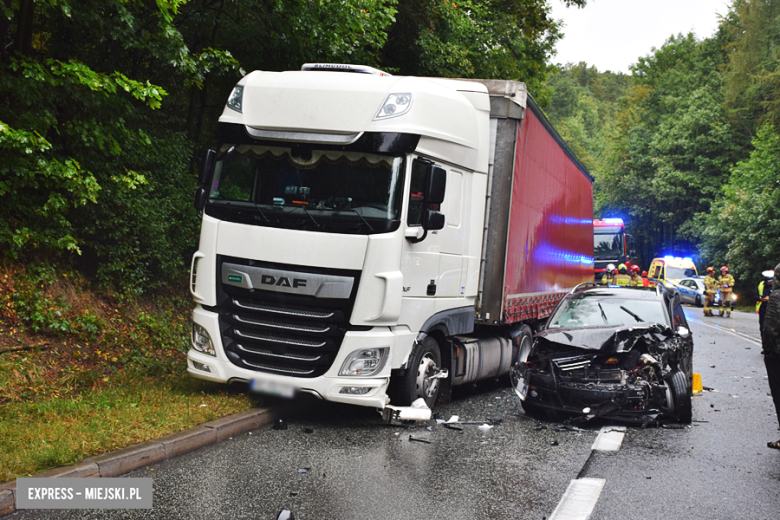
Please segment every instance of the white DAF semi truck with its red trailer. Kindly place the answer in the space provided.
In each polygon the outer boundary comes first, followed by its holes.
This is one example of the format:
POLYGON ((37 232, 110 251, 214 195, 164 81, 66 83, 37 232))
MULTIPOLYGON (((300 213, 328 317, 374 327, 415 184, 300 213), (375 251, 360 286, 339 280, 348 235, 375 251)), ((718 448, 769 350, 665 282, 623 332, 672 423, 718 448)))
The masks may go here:
POLYGON ((525 361, 593 279, 593 178, 521 82, 255 71, 219 142, 195 201, 193 377, 432 407, 525 361))

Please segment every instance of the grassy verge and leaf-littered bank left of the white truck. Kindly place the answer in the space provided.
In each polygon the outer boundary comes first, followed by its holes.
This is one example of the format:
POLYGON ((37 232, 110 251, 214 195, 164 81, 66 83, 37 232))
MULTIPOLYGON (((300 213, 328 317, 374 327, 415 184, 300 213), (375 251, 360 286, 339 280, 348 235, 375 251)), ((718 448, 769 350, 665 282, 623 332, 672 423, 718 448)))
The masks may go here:
POLYGON ((96 291, 61 267, 0 264, 0 482, 257 405, 187 375, 191 307, 182 292, 96 291))

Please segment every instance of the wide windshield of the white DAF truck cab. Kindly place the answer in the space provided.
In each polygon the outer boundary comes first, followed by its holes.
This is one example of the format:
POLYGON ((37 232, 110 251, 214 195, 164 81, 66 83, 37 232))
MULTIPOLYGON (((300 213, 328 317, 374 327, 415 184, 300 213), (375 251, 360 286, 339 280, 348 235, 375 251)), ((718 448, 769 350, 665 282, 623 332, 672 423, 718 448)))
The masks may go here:
POLYGON ((338 233, 400 225, 402 157, 223 145, 206 213, 222 220, 338 233))

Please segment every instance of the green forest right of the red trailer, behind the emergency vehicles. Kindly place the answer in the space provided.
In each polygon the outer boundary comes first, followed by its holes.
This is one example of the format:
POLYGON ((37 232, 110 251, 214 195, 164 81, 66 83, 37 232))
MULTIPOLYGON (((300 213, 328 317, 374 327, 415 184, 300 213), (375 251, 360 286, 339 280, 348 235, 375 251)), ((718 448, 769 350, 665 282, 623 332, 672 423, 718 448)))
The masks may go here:
POLYGON ((780 2, 735 0, 709 38, 670 35, 631 74, 566 64, 546 111, 641 265, 728 265, 752 296, 780 262, 780 2))

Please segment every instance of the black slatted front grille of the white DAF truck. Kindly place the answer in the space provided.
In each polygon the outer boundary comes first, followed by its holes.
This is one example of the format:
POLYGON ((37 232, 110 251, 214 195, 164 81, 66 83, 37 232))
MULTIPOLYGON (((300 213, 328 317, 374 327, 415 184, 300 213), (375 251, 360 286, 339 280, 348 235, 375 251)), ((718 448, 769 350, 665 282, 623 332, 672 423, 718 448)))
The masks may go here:
MULTIPOLYGON (((231 273, 247 266, 252 272, 295 271, 295 267, 220 257, 231 273)), ((218 271, 218 272, 220 272, 218 271)), ((296 271, 305 278, 310 273, 296 271)), ((257 372, 318 377, 333 364, 346 331, 357 292, 359 273, 317 270, 319 279, 354 279, 348 298, 316 298, 277 292, 273 288, 246 288, 224 283, 218 276, 222 344, 235 365, 257 372), (346 276, 345 276, 346 275, 346 276)))

